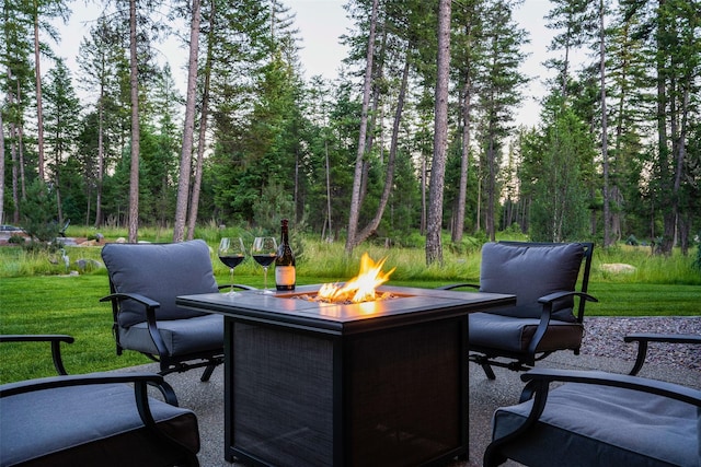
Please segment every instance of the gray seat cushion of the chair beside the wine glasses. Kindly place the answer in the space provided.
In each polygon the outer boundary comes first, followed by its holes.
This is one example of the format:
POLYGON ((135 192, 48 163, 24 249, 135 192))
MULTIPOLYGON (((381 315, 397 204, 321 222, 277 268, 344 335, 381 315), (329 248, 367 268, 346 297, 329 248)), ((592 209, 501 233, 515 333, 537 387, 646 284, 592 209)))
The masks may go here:
MULTIPOLYGON (((223 316, 221 315, 161 320, 158 322, 158 330, 171 357, 223 348, 223 316)), ((125 349, 158 353, 146 323, 128 328, 120 327, 119 343, 125 349)))

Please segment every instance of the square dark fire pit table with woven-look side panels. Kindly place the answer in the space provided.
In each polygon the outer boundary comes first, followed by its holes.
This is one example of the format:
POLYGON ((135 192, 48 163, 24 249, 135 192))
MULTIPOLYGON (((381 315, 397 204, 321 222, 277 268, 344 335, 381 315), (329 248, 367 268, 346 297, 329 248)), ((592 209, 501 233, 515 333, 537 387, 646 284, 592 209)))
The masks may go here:
POLYGON ((225 457, 275 466, 416 466, 468 455, 468 314, 514 295, 319 285, 177 297, 225 317, 225 457))

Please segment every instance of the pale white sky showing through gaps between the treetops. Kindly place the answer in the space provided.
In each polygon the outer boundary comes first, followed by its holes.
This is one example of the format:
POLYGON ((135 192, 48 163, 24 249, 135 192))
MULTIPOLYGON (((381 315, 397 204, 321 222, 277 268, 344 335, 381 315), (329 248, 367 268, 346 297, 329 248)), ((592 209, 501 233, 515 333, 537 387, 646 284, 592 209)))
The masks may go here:
MULTIPOLYGON (((428 0, 434 1, 434 0, 428 0)), ((346 56, 346 49, 338 44, 338 37, 348 32, 352 23, 346 19, 343 4, 346 0, 284 0, 296 13, 297 27, 302 39, 300 61, 307 78, 321 74, 334 79, 346 56)), ((67 60, 71 70, 77 70, 76 57, 83 36, 88 35, 91 25, 100 15, 100 7, 85 5, 83 0, 71 4, 72 15, 68 25, 57 24, 61 32, 61 43, 56 47, 57 54, 67 60)), ((517 125, 533 126, 538 121, 538 101, 545 93, 543 80, 551 74, 542 66, 549 58, 547 48, 552 38, 552 31, 545 27, 543 16, 550 10, 549 0, 525 0, 515 12, 520 26, 530 33, 530 44, 522 49, 528 54, 521 72, 531 78, 524 90, 524 104, 517 110, 517 125)), ((181 91, 185 92, 186 71, 183 63, 186 52, 177 50, 174 40, 158 46, 161 55, 171 65, 171 69, 181 91), (177 78, 181 78, 179 80, 177 78)), ((73 74, 76 72, 73 71, 73 74)))

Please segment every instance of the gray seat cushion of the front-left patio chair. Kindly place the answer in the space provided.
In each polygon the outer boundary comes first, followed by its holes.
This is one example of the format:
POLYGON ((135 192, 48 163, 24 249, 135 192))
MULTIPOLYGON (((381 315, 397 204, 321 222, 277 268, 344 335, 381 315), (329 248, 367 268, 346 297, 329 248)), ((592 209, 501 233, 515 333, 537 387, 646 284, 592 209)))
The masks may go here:
MULTIPOLYGON (((166 433, 199 451, 197 418, 186 409, 150 399, 166 433)), ((38 390, 0 399, 0 465, 165 466, 172 447, 154 442, 126 384, 38 390), (108 416, 105 416, 108 413, 108 416)))

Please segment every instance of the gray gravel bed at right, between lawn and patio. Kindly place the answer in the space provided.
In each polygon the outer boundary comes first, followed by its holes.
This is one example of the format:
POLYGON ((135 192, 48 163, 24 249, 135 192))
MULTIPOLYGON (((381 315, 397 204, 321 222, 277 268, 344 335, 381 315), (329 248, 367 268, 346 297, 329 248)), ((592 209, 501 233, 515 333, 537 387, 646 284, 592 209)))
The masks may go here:
MULTIPOLYGON (((701 335, 701 317, 585 317, 585 329, 583 354, 634 361, 637 345, 625 343, 623 336, 633 332, 701 335)), ((701 346, 651 342, 646 361, 701 371, 701 346)))

